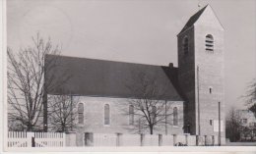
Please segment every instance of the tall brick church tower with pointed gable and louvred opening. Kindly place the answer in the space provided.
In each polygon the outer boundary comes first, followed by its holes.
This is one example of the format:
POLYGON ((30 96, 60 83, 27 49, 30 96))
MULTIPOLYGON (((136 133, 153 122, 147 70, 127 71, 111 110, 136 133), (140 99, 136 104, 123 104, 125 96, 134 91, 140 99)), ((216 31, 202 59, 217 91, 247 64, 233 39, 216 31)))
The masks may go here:
POLYGON ((224 137, 224 27, 207 5, 189 19, 177 39, 184 129, 199 135, 218 135, 221 129, 224 137))

